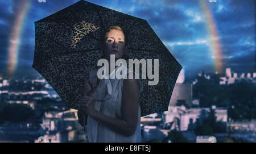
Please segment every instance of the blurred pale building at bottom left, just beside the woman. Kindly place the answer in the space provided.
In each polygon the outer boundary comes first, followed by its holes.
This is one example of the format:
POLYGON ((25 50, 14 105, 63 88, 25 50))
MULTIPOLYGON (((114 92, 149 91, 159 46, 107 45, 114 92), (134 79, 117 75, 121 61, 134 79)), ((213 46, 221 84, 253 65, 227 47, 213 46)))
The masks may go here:
MULTIPOLYGON (((42 129, 45 142, 87 142, 86 132, 78 122, 77 110, 44 113, 42 129)), ((35 140, 36 141, 36 140, 35 140)))

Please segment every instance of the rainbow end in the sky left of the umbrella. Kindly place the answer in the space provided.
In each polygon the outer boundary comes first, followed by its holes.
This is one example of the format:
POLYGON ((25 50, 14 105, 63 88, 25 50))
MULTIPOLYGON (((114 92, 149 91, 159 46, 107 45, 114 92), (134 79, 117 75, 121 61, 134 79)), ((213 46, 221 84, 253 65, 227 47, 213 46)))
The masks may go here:
POLYGON ((18 10, 17 16, 14 21, 14 25, 10 35, 10 42, 9 42, 9 56, 8 56, 8 65, 7 65, 7 75, 10 77, 13 76, 18 52, 19 52, 19 41, 20 41, 20 34, 22 31, 22 25, 24 22, 24 18, 26 16, 27 10, 30 6, 30 1, 22 1, 20 3, 20 8, 18 10))

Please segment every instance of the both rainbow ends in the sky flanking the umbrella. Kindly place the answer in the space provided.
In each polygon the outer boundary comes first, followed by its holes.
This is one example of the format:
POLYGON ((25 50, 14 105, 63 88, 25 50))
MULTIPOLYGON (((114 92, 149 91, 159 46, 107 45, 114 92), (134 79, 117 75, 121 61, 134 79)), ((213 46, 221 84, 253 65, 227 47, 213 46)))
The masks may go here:
MULTIPOLYGON (((200 6, 205 14, 206 25, 209 33, 209 40, 210 40, 210 50, 212 51, 213 58, 214 58, 214 67, 218 73, 222 73, 222 54, 221 54, 221 44, 220 44, 220 37, 218 35, 216 23, 214 22, 214 18, 212 12, 209 9, 208 2, 206 0, 200 0, 200 6)), ((21 7, 18 11, 18 16, 15 18, 14 26, 11 31, 10 36, 10 45, 9 45, 9 59, 8 59, 8 66, 7 66, 7 74, 12 76, 15 67, 17 64, 17 57, 19 53, 19 41, 20 41, 20 34, 22 32, 22 25, 24 22, 24 18, 26 16, 27 10, 30 6, 30 1, 24 0, 21 3, 21 7)))

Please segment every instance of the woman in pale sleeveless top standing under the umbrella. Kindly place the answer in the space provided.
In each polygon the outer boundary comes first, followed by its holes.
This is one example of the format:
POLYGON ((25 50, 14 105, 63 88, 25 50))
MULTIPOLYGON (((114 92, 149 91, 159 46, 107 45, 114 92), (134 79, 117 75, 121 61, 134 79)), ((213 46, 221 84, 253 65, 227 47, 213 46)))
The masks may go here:
MULTIPOLYGON (((109 64, 110 55, 115 55, 115 61, 122 59, 127 52, 127 38, 122 28, 109 27, 100 48, 109 64)), ((111 74, 113 72, 109 77, 111 74)), ((98 80, 97 70, 92 70, 89 78, 78 111, 80 124, 87 124, 89 142, 141 142, 139 92, 142 83, 134 79, 133 71, 127 69, 127 79, 98 80)))

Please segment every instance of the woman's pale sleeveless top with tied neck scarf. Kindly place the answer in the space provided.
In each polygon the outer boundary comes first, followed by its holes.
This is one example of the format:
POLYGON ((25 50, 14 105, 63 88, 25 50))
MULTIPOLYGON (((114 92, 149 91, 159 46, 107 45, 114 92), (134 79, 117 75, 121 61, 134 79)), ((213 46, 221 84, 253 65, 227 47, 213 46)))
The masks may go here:
MULTIPOLYGON (((124 67, 118 66, 115 68, 124 67)), ((127 73, 132 72, 131 70, 126 69, 127 73)), ((97 76, 97 70, 92 70, 90 72, 89 78, 94 78, 97 76)), ((109 78, 114 76, 114 70, 110 73, 109 78)), ((116 74, 118 76, 118 74, 116 74)), ((96 90, 94 91, 93 97, 97 98, 94 100, 94 107, 97 111, 104 113, 112 118, 122 118, 121 107, 122 107, 122 86, 123 78, 115 77, 115 79, 102 79, 96 90)), ((139 81, 139 92, 142 90, 142 82, 139 81)), ((110 130, 108 127, 105 127, 103 124, 98 123, 96 120, 88 116, 87 119, 87 132, 89 142, 141 142, 141 107, 138 105, 138 122, 137 128, 133 135, 125 136, 110 130)))

